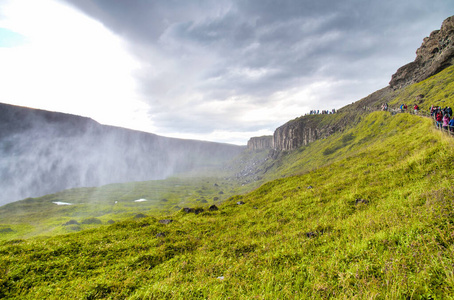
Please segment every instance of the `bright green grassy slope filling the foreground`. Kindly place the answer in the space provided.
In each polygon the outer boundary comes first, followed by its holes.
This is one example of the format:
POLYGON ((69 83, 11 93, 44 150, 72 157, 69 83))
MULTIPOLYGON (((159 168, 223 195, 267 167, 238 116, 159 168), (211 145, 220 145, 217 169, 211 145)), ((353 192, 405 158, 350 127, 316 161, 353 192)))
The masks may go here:
POLYGON ((0 297, 454 297, 454 140, 431 120, 375 112, 285 161, 303 174, 217 211, 5 241, 0 297))

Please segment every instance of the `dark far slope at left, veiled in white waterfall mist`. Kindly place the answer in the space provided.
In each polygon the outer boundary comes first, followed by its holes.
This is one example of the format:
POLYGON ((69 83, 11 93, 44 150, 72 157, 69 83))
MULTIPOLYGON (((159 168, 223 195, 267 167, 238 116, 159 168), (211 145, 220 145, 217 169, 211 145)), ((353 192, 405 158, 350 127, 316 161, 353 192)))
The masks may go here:
POLYGON ((0 204, 68 188, 219 167, 244 149, 6 104, 0 104, 0 146, 0 204))

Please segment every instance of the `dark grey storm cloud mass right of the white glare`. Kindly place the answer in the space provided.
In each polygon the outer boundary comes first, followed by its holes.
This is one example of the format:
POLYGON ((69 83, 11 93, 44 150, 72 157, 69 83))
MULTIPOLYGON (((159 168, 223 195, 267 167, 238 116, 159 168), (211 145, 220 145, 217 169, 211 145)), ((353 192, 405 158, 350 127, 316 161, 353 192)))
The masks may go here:
POLYGON ((273 130, 304 109, 358 100, 454 11, 450 0, 67 1, 130 42, 164 133, 273 130), (273 115, 279 95, 319 86, 331 90, 298 98, 295 115, 273 115), (265 107, 262 120, 247 121, 265 107))

